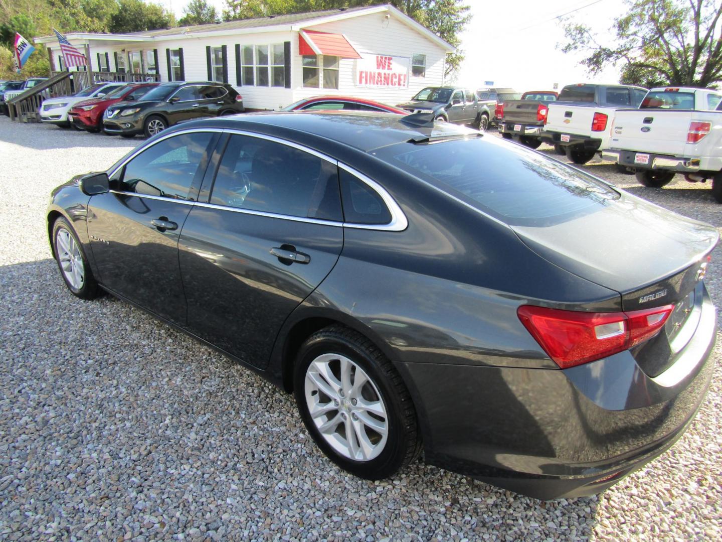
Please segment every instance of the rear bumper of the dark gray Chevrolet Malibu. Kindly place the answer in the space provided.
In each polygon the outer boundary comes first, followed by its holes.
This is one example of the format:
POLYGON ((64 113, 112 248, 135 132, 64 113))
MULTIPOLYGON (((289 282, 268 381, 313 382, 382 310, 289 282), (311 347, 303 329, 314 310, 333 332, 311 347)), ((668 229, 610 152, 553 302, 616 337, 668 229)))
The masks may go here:
POLYGON ((713 374, 716 309, 648 377, 629 351, 572 369, 401 364, 428 463, 539 499, 604 491, 684 433, 713 374))

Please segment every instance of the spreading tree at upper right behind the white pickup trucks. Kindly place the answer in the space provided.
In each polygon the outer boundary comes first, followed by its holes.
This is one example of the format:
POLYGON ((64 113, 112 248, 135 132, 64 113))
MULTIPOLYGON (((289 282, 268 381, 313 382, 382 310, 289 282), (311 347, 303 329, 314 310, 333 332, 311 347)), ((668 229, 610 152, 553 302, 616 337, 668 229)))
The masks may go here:
POLYGON ((722 79, 722 2, 628 0, 629 10, 602 44, 586 25, 567 22, 562 51, 583 51, 591 74, 622 63, 621 81, 708 87, 722 79))

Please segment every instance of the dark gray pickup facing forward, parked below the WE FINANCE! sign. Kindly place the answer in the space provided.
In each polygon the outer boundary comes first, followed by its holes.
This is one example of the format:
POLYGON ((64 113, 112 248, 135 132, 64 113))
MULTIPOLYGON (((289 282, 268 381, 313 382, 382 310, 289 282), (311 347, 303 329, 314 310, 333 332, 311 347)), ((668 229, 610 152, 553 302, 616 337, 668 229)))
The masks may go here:
POLYGON ((437 121, 471 124, 482 132, 489 126, 491 118, 487 108, 479 108, 477 95, 460 87, 426 87, 411 101, 399 103, 396 107, 411 113, 434 113, 437 121))

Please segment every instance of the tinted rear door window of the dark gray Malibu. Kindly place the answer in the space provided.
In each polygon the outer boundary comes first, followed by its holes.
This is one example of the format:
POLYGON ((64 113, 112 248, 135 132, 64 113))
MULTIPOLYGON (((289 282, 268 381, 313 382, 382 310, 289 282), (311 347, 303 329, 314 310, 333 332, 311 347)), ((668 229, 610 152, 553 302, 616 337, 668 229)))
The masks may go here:
POLYGON ((294 147, 231 135, 211 203, 302 218, 342 221, 338 168, 294 147))

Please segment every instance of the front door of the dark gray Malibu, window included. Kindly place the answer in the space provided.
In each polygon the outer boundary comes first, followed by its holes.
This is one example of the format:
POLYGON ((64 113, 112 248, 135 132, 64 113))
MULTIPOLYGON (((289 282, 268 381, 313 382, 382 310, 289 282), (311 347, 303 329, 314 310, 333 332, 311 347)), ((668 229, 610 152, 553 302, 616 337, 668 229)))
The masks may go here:
POLYGON ((88 234, 100 282, 176 324, 186 324, 178 236, 217 139, 216 132, 160 139, 111 173, 110 192, 90 199, 88 234))

